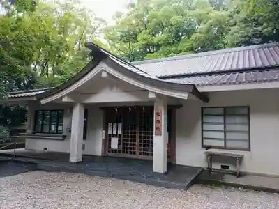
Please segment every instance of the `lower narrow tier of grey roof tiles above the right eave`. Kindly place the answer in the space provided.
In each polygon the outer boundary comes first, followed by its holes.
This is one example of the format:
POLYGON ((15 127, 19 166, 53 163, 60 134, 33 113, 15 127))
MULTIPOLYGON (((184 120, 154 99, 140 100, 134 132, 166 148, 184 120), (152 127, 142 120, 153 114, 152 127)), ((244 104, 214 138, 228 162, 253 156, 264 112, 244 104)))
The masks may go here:
POLYGON ((230 72, 215 75, 184 76, 179 78, 169 78, 165 80, 168 82, 180 84, 195 84, 197 86, 278 82, 279 69, 253 70, 250 72, 230 72))

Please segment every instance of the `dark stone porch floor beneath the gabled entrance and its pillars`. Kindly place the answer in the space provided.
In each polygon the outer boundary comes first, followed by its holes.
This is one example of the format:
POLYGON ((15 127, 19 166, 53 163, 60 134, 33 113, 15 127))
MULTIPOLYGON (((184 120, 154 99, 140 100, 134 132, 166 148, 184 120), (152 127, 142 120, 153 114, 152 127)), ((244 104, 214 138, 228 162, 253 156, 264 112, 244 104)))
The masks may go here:
MULTIPOLYGON (((84 173, 92 176, 118 178, 159 187, 188 189, 202 168, 185 167, 168 163, 168 172, 154 173, 149 160, 127 159, 123 157, 93 157, 85 155, 83 161, 73 164, 69 154, 33 150, 17 150, 16 161, 31 162, 37 169, 54 172, 84 173)), ((3 150, 1 156, 13 157, 13 150, 3 150)))

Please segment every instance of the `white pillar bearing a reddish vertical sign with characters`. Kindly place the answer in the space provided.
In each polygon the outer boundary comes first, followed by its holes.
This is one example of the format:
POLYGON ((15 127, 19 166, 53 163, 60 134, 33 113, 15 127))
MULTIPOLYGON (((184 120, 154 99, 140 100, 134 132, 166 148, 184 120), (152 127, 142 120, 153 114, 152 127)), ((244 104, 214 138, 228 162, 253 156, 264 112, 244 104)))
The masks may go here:
POLYGON ((154 104, 153 172, 167 172, 167 102, 160 98, 154 104))

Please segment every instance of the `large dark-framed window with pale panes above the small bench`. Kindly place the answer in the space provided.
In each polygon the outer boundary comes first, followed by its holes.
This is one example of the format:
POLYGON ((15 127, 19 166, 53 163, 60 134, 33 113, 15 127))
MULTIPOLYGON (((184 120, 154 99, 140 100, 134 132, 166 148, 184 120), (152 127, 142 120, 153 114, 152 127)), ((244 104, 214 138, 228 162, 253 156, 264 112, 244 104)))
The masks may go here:
POLYGON ((250 150, 249 107, 202 107, 202 147, 250 150))

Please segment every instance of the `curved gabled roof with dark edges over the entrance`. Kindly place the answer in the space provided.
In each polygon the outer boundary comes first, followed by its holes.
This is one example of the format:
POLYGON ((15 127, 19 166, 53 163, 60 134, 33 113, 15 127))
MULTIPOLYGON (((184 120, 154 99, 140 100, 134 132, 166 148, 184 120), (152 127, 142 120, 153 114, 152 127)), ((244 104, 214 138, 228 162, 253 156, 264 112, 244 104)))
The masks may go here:
MULTIPOLYGON (((101 63, 101 61, 105 61, 107 65, 121 73, 130 79, 133 79, 136 82, 140 82, 141 84, 145 84, 142 88, 146 88, 146 90, 153 89, 153 91, 158 91, 165 95, 169 95, 170 91, 172 91, 172 96, 176 97, 176 93, 191 93, 195 95, 200 100, 204 102, 208 102, 209 98, 204 93, 200 93, 194 84, 178 84, 173 82, 167 82, 163 79, 159 79, 157 77, 153 77, 147 72, 140 70, 134 65, 119 59, 119 57, 114 56, 110 52, 107 52, 105 49, 94 45, 91 42, 86 44, 86 47, 91 49, 91 54, 93 55, 93 60, 86 65, 86 67, 77 73, 72 79, 69 79, 67 82, 57 86, 56 88, 51 89, 50 91, 45 91, 44 93, 40 93, 36 95, 38 100, 43 100, 47 98, 47 102, 53 100, 54 97, 60 97, 61 95, 66 93, 66 89, 73 86, 75 83, 82 80, 86 75, 93 72, 96 66, 101 63), (150 89, 149 89, 150 88, 150 89), (157 89, 157 90, 156 90, 157 89), (162 89, 163 91, 161 91, 162 89), (176 92, 176 93, 175 93, 176 92), (54 95, 54 96, 53 96, 54 95)), ((93 74, 93 73, 92 73, 93 74)), ((76 87, 73 87, 76 88, 76 87)), ((73 90, 71 90, 73 91, 73 90)), ((179 95, 177 95, 179 96, 179 95)))

